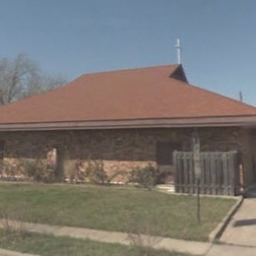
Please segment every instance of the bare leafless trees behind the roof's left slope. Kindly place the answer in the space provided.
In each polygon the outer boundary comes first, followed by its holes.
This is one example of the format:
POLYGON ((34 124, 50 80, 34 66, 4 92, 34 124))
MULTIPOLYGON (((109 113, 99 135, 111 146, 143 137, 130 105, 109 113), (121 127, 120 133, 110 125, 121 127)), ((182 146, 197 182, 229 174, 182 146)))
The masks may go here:
POLYGON ((43 74, 27 55, 0 59, 0 105, 53 90, 66 84, 60 76, 43 74))

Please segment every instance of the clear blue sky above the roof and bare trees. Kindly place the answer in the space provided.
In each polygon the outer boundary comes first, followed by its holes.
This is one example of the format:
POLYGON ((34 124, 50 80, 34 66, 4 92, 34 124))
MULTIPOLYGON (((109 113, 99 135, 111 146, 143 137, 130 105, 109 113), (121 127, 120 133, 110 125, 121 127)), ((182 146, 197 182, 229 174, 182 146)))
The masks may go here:
POLYGON ((69 80, 176 63, 190 84, 256 105, 255 0, 0 0, 0 58, 69 80))

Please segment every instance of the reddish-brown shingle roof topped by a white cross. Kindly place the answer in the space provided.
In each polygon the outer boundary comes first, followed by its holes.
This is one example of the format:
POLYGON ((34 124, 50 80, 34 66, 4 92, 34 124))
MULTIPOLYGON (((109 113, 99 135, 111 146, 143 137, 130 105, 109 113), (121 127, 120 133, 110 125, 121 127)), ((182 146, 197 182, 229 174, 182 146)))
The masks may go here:
POLYGON ((254 115, 255 107, 191 86, 181 66, 167 65, 81 76, 0 107, 0 125, 254 115))

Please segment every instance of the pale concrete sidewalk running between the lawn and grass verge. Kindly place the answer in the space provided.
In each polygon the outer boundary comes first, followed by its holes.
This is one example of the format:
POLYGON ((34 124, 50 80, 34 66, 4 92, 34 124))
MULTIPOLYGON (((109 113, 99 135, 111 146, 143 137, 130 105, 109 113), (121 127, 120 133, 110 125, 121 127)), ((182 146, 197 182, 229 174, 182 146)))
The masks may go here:
MULTIPOLYGON (((4 226, 4 220, 0 220, 0 226, 4 226)), ((12 224, 12 223, 10 223, 12 224)), ((14 223, 17 224, 17 223, 14 223)), ((24 223, 24 227, 32 232, 50 233, 56 236, 71 236, 82 239, 92 239, 100 242, 130 244, 127 234, 123 232, 103 231, 81 227, 48 225, 48 224, 30 224, 24 223)), ((169 251, 181 252, 189 255, 202 256, 252 256, 256 254, 255 248, 244 246, 231 246, 223 244, 212 244, 208 242, 185 241, 158 236, 144 236, 145 240, 159 241, 153 247, 156 249, 166 249, 169 251)), ((0 249, 0 256, 29 256, 18 252, 6 251, 0 249)))

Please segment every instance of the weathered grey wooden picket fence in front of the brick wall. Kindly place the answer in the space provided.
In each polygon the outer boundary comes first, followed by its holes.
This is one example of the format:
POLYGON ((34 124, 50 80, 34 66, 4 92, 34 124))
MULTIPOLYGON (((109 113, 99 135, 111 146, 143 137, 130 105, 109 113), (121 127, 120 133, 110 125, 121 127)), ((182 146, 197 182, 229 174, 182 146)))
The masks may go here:
MULTIPOLYGON (((174 185, 177 193, 196 193, 193 152, 173 153, 174 185)), ((239 170, 236 152, 202 152, 200 193, 237 195, 239 170)))

